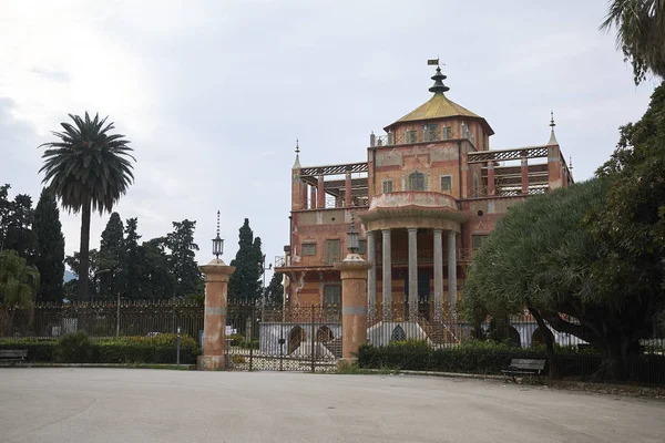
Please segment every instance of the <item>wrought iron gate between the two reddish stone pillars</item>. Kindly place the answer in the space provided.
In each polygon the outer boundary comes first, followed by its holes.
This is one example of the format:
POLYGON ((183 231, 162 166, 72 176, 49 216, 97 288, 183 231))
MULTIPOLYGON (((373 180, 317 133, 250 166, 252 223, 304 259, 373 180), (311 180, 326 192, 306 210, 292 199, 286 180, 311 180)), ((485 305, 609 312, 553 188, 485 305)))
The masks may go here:
POLYGON ((226 368, 248 371, 331 370, 341 357, 340 315, 339 307, 229 305, 226 368))

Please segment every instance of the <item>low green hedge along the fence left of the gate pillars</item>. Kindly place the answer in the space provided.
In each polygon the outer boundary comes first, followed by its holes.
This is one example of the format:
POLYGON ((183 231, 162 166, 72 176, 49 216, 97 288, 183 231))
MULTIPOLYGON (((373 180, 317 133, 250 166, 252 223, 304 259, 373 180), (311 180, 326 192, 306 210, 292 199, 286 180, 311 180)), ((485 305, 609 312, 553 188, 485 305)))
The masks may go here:
MULTIPOLYGON (((84 332, 63 336, 58 341, 13 339, 0 341, 0 349, 25 349, 28 361, 60 363, 175 363, 176 336, 119 337, 91 339, 84 332)), ((181 363, 196 363, 196 341, 181 337, 181 363)))

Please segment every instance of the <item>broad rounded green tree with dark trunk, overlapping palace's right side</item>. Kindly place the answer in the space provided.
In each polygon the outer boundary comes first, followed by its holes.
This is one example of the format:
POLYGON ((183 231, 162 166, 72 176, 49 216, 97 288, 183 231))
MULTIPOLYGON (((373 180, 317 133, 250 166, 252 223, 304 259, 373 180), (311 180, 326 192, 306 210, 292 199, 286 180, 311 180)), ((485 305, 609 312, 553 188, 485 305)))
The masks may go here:
POLYGON ((543 330, 546 321, 603 352, 596 379, 631 377, 627 363, 648 337, 652 316, 648 301, 625 285, 597 282, 602 245, 582 223, 604 199, 604 183, 594 179, 512 207, 473 257, 463 290, 467 317, 478 322, 528 309, 543 330))

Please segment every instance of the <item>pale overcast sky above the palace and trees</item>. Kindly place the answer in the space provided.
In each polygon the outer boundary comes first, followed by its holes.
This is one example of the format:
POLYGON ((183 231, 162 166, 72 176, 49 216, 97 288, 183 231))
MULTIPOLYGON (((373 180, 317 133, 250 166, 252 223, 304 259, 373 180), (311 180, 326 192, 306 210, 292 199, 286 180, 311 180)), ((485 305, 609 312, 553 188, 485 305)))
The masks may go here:
MULTIPOLYGON (((304 166, 360 162, 371 131, 430 97, 487 119, 493 148, 544 144, 550 110, 576 181, 612 153, 656 85, 635 87, 605 0, 0 0, 0 183, 39 198, 40 143, 68 113, 110 115, 132 141, 135 184, 116 210, 144 240, 196 220, 207 262, 249 218, 268 257, 288 243, 296 138, 304 166)), ((109 215, 93 216, 91 247, 109 215)), ((66 254, 80 217, 61 215, 66 254)))

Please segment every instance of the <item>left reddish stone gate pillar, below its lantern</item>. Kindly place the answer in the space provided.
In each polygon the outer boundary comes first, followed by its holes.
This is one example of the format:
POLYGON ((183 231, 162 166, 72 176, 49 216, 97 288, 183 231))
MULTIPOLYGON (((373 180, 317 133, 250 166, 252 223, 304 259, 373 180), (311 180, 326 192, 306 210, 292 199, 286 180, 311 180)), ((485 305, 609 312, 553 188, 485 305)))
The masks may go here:
POLYGON ((200 267, 205 275, 205 313, 203 320, 203 356, 197 368, 214 371, 224 368, 226 347, 226 296, 228 278, 235 267, 226 266, 221 259, 200 267))

